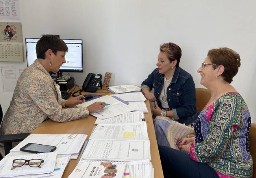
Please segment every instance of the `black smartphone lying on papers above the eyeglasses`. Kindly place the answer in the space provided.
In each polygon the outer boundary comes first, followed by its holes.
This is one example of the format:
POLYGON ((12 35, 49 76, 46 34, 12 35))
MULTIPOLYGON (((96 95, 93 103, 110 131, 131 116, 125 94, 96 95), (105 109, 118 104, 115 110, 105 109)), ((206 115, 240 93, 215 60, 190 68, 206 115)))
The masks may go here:
POLYGON ((48 153, 56 150, 57 147, 50 145, 41 145, 37 143, 28 143, 24 147, 20 148, 20 151, 30 152, 30 153, 48 153))

